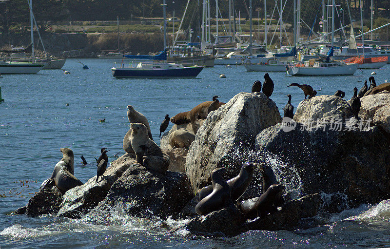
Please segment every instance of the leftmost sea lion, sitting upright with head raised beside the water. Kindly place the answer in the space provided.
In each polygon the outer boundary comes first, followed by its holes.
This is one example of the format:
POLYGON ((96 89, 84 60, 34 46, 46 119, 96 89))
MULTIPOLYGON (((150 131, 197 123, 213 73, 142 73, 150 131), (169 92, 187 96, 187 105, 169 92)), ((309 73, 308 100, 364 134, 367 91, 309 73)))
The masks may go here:
POLYGON ((69 148, 60 148, 59 151, 62 153, 62 159, 54 167, 52 176, 42 183, 41 188, 55 184, 62 193, 65 193, 76 186, 83 185, 83 183, 73 175, 75 159, 73 151, 69 148))

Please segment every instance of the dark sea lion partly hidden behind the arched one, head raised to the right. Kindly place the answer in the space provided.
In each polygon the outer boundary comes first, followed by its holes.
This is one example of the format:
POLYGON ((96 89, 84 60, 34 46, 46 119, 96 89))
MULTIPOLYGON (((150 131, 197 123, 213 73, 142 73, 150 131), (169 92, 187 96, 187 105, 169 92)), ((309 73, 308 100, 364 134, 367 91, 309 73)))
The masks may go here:
MULTIPOLYGON (((237 176, 227 181, 233 201, 237 201, 248 189, 252 181, 254 166, 253 162, 244 163, 237 176)), ((199 191, 199 201, 213 192, 213 185, 206 186, 199 191)))

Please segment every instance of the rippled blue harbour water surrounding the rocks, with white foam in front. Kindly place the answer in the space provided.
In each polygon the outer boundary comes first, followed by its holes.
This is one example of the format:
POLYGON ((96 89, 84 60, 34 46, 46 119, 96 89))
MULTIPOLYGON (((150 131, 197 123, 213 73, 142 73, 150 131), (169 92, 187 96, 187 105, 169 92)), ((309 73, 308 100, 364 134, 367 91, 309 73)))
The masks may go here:
MULTIPOLYGON (((62 70, 44 70, 37 75, 4 75, 0 79, 0 247, 1 248, 379 248, 390 247, 390 202, 362 205, 337 214, 319 213, 304 219, 293 231, 248 231, 233 238, 192 237, 182 229, 188 220, 141 219, 115 216, 110 224, 95 225, 84 220, 52 215, 27 217, 9 213, 25 206, 50 177, 62 154, 60 147, 75 153, 75 175, 83 182, 96 175, 94 156, 101 147, 110 149, 109 160, 122 155, 122 140, 129 129, 127 105, 143 113, 159 143, 159 125, 170 116, 192 109, 218 95, 227 102, 239 92, 250 92, 264 73, 246 72, 242 66, 205 68, 195 79, 116 79, 114 61, 68 59, 62 70), (227 78, 219 78, 225 74, 227 78), (69 103, 69 106, 65 105, 69 103), (104 123, 98 119, 106 118, 104 123), (80 156, 90 164, 83 166, 80 156)), ((290 77, 270 73, 275 86, 271 98, 279 111, 292 95, 292 105, 304 98, 297 82, 310 84, 318 95, 336 90, 351 98, 375 71, 377 84, 390 80, 384 69, 358 70, 354 76, 290 77), (362 82, 358 82, 362 81, 362 82)), ((283 114, 282 114, 283 115, 283 114)), ((172 127, 172 123, 169 128, 172 127)), ((284 168, 277 157, 276 168, 284 168)), ((296 186, 299 187, 299 186, 296 186)))

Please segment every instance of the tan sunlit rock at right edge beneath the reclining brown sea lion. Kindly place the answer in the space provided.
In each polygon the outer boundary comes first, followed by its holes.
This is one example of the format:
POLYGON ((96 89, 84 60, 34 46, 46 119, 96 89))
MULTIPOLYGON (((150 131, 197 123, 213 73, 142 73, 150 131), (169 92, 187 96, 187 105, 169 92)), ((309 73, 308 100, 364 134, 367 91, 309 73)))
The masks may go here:
POLYGON ((390 94, 379 93, 360 98, 362 107, 359 116, 372 122, 390 134, 390 94))

